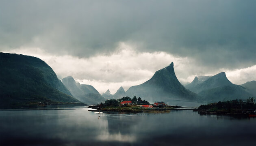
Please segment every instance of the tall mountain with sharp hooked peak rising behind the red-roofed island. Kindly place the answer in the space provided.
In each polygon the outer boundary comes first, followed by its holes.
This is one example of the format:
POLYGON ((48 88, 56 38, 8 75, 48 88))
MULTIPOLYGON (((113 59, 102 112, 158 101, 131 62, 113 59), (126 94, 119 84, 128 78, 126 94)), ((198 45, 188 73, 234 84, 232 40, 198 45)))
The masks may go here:
POLYGON ((175 73, 174 63, 165 67, 153 75, 145 83, 130 87, 126 93, 133 97, 141 97, 150 102, 175 100, 196 100, 197 95, 180 84, 175 73))

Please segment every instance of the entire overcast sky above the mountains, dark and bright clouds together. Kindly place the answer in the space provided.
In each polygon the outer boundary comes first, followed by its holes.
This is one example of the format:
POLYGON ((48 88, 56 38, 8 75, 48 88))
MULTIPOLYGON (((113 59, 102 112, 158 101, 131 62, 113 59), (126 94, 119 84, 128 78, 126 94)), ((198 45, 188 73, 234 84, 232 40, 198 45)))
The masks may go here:
POLYGON ((187 84, 256 80, 255 0, 0 0, 0 52, 38 57, 100 93, 174 62, 187 84))

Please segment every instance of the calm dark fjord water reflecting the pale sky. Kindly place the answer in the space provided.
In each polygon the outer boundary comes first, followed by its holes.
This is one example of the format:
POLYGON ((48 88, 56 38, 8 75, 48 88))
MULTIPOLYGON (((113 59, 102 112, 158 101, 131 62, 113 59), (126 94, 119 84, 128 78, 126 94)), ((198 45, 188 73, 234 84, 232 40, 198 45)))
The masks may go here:
POLYGON ((1 146, 255 144, 256 118, 200 116, 189 110, 96 114, 84 107, 0 111, 1 146))

